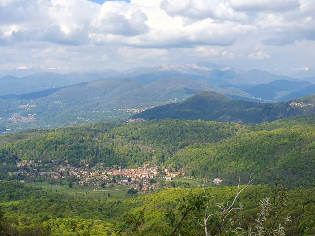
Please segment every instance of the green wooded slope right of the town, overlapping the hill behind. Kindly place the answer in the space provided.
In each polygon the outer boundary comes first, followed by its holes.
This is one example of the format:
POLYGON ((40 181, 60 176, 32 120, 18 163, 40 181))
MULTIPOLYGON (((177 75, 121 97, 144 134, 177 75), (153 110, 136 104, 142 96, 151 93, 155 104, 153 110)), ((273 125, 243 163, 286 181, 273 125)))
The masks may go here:
POLYGON ((238 171, 249 175, 253 170, 264 170, 260 183, 270 183, 281 176, 286 183, 309 185, 315 181, 313 119, 314 116, 306 116, 265 123, 253 132, 243 132, 219 143, 189 145, 169 163, 209 179, 220 176, 231 180, 231 184, 236 183, 238 171))

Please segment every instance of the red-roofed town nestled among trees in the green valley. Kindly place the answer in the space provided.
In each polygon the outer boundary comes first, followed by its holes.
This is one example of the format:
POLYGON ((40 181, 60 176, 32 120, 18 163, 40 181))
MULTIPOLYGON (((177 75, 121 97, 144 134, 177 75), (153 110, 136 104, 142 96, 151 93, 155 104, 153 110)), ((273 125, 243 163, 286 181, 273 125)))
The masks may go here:
MULTIPOLYGON (((125 169, 124 166, 117 165, 105 167, 104 163, 96 163, 95 166, 85 163, 83 166, 72 166, 68 160, 62 163, 57 160, 49 160, 49 163, 45 164, 41 160, 21 160, 16 163, 16 166, 19 167, 19 171, 8 172, 9 176, 25 176, 33 181, 35 178, 40 178, 40 181, 71 180, 72 185, 103 188, 128 186, 137 189, 138 193, 154 191, 155 188, 169 188, 172 183, 168 183, 168 181, 172 179, 194 180, 186 177, 182 169, 173 173, 165 166, 161 170, 159 166, 150 167, 148 164, 137 169, 125 169)), ((199 181, 198 178, 195 180, 199 181)), ((24 182, 24 179, 20 178, 20 181, 24 182)), ((222 181, 220 178, 215 178, 212 182, 220 184, 222 181)))

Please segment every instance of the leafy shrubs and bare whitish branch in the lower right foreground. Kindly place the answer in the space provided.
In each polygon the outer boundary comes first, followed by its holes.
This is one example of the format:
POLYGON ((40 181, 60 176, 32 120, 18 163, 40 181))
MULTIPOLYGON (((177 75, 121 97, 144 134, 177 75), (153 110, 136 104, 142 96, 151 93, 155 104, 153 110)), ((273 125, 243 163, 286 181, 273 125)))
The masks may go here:
POLYGON ((214 197, 208 196, 203 183, 203 192, 199 194, 190 193, 181 200, 181 216, 176 221, 173 211, 166 212, 172 232, 166 235, 184 235, 186 228, 195 225, 199 232, 194 235, 237 235, 237 236, 285 236, 286 233, 293 236, 303 235, 315 230, 315 207, 309 202, 314 200, 314 185, 303 195, 301 190, 301 211, 298 216, 291 216, 292 210, 289 199, 286 196, 286 188, 279 187, 278 178, 274 185, 273 199, 264 197, 256 199, 256 217, 246 219, 242 210, 244 206, 237 199, 241 192, 253 184, 259 176, 249 177, 249 182, 240 187, 241 175, 239 175, 236 194, 230 198, 231 189, 225 204, 215 203, 214 197), (278 197, 277 197, 278 195, 278 197), (313 197, 313 198, 311 198, 313 197), (232 200, 229 203, 230 199, 232 200), (177 222, 175 224, 175 222, 177 222), (175 225, 175 226, 174 226, 175 225), (209 228, 209 226, 211 226, 209 228), (203 233, 202 233, 203 230, 203 233))

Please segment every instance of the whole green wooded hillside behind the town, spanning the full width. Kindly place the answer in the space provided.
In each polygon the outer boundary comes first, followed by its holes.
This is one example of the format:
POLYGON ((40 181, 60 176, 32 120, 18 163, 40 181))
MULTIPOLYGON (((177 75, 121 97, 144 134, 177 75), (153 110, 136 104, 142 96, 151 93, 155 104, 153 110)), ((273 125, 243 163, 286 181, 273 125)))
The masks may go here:
POLYGON ((96 123, 30 131, 3 136, 1 178, 16 169, 20 159, 68 160, 73 165, 152 163, 183 168, 199 178, 222 177, 236 183, 241 171, 263 171, 259 183, 272 183, 280 175, 288 185, 315 181, 315 115, 297 116, 259 125, 214 121, 157 120, 140 124, 96 123), (10 169, 12 168, 12 169, 10 169))

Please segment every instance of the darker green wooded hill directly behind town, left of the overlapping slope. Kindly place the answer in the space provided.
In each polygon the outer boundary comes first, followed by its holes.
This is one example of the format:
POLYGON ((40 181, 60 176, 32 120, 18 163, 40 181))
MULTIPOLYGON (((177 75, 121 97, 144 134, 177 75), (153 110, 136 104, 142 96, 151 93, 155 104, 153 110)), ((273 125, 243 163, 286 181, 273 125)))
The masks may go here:
POLYGON ((233 136, 243 126, 218 122, 151 121, 141 124, 96 123, 3 136, 2 161, 57 158, 79 164, 135 166, 156 157, 158 163, 192 143, 211 143, 233 136), (118 126, 118 127, 117 127, 118 126), (26 138, 28 136, 34 136, 26 138), (18 140, 21 138, 20 140, 18 140), (8 140, 8 141, 6 141, 8 140), (13 142, 11 142, 13 141, 13 142))

